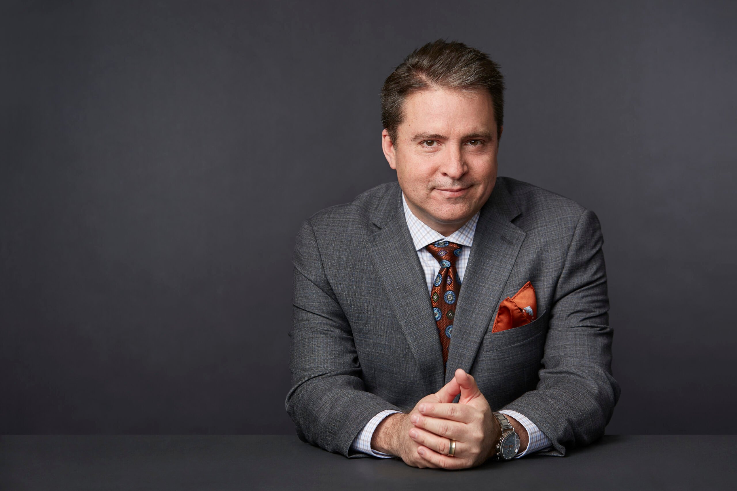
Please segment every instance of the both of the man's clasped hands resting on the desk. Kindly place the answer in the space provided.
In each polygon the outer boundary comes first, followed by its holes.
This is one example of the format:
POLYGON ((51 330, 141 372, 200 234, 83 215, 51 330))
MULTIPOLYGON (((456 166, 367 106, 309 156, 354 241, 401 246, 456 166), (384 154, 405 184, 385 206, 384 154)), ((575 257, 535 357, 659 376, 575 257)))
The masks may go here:
MULTIPOLYGON (((413 467, 475 467, 495 454, 501 436, 489 403, 472 375, 461 368, 442 389, 420 399, 409 414, 391 414, 385 419, 390 418, 393 423, 384 428, 394 436, 389 453, 413 467), (453 403, 458 393, 461 397, 453 403), (450 439, 455 440, 454 456, 448 456, 450 439)), ((381 425, 377 431, 380 429, 381 425)))

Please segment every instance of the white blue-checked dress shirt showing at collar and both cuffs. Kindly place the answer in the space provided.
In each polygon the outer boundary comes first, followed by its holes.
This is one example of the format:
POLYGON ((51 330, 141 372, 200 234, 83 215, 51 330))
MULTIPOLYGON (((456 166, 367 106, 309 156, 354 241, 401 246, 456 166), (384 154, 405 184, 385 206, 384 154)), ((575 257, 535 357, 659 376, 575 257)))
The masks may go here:
MULTIPOLYGON (((461 283, 463 283, 463 277, 464 273, 466 272, 466 265, 468 264, 468 256, 471 253, 473 234, 476 231, 476 224, 478 223, 479 213, 476 213, 474 216, 472 216, 472 218, 468 222, 466 222, 463 227, 451 233, 450 236, 444 237, 438 231, 433 230, 432 228, 425 225, 422 220, 417 218, 414 213, 412 213, 407 205, 404 193, 402 193, 402 205, 405 209, 405 219, 407 221, 407 226, 410 229, 410 235, 412 236, 412 241, 414 242, 415 250, 417 251, 417 255, 419 257, 419 262, 420 264, 422 264, 422 269, 425 271, 427 290, 429 292, 432 292, 433 280, 440 271, 440 264, 436 260, 436 258, 433 258, 433 255, 430 253, 430 251, 425 249, 425 246, 437 241, 451 241, 464 246, 464 248, 461 250, 461 255, 459 255, 458 260, 455 261, 455 270, 458 272, 458 277, 461 279, 461 283)), ((391 457, 391 455, 388 453, 374 451, 371 448, 371 437, 374 435, 374 430, 376 430, 379 423, 381 423, 382 420, 389 414, 394 414, 395 412, 399 411, 394 411, 394 409, 386 409, 385 411, 381 411, 379 414, 372 417, 371 420, 366 423, 366 426, 364 426, 363 429, 359 431, 356 435, 351 444, 352 450, 368 453, 368 455, 382 457, 384 459, 388 459, 389 457, 391 457)), ((509 409, 505 409, 499 412, 513 417, 515 420, 520 422, 520 425, 523 425, 525 427, 525 430, 527 430, 527 434, 529 437, 527 448, 525 449, 525 451, 515 456, 515 459, 519 459, 521 456, 525 456, 528 453, 537 452, 551 446, 551 440, 546 437, 545 434, 539 430, 539 428, 537 428, 537 425, 535 425, 535 423, 532 423, 523 414, 520 414, 517 411, 510 411, 509 409)))

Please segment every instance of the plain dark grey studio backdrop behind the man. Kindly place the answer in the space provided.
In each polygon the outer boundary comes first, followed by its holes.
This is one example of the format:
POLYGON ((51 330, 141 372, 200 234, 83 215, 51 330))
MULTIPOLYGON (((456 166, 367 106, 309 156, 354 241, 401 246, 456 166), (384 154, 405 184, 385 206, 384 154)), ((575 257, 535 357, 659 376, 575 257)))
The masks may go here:
POLYGON ((607 431, 737 432, 736 25, 733 1, 5 2, 0 433, 293 432, 294 236, 396 178, 378 93, 436 38, 502 66, 500 175, 601 219, 607 431))

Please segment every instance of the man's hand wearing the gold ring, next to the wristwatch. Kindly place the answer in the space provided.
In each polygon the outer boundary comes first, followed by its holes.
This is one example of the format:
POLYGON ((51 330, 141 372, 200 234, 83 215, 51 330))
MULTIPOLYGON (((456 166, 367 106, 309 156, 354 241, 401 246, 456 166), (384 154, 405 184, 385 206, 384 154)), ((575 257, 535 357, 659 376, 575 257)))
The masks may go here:
POLYGON ((417 448, 419 455, 443 469, 483 464, 494 455, 501 436, 492 408, 473 377, 459 368, 455 370, 455 381, 461 392, 457 404, 422 403, 418 408, 421 414, 411 417, 414 428, 410 437, 421 444, 417 448), (455 440, 453 457, 447 455, 450 439, 455 440))

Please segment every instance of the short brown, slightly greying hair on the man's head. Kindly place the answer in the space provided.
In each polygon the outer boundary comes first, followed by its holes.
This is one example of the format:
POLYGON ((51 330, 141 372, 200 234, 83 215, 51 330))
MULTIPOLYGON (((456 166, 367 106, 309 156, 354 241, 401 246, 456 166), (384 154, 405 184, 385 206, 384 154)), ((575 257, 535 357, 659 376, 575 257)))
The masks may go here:
POLYGON ((489 55, 464 43, 439 39, 415 49, 381 88, 381 122, 391 141, 397 143, 397 127, 402 124, 402 107, 411 93, 435 88, 456 91, 486 89, 492 96, 497 140, 504 123, 504 77, 489 55))

